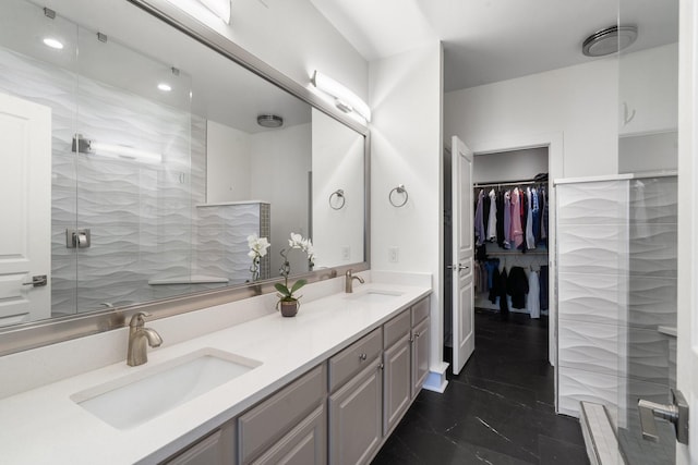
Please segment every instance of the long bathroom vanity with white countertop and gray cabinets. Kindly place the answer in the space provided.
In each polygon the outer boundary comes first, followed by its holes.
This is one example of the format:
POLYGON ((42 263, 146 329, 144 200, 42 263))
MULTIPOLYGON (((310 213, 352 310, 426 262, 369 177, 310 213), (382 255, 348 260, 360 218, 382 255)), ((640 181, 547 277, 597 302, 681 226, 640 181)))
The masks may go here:
MULTIPOLYGON (((369 462, 429 372, 431 289, 366 279, 347 294, 330 281, 316 284, 326 289, 317 298, 309 286, 294 318, 267 311, 171 344, 168 333, 210 325, 214 309, 148 321, 164 343, 147 364, 122 360, 0 400, 3 461, 369 462)), ((250 301, 237 304, 265 305, 250 301)), ((32 352, 13 356, 31 363, 32 352)))

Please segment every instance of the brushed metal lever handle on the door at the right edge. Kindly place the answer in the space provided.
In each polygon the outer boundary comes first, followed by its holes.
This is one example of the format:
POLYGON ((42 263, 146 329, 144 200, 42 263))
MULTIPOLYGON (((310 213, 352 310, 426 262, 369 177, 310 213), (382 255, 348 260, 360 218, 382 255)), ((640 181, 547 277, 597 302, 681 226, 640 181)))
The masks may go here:
POLYGON ((662 418, 674 425, 676 440, 682 444, 688 444, 688 403, 681 391, 673 389, 672 402, 672 404, 658 404, 643 399, 638 400, 637 407, 640 413, 642 439, 659 442, 654 418, 662 418))

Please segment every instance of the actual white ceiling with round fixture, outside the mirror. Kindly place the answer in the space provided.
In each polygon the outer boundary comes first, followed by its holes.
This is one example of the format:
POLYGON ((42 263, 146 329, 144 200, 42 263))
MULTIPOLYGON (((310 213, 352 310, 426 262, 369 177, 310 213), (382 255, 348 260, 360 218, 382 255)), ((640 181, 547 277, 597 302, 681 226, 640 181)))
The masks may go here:
POLYGON ((628 51, 677 41, 677 0, 311 0, 366 59, 444 44, 446 91, 592 60, 590 34, 637 25, 628 51))

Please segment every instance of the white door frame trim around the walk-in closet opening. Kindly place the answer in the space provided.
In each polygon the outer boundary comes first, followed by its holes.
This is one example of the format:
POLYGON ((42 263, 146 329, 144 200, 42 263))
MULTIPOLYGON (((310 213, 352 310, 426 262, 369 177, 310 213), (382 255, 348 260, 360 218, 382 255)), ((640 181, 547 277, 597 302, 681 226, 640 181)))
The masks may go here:
POLYGON ((547 286, 549 308, 549 360, 555 369, 555 411, 557 411, 557 267, 555 256, 557 250, 557 230, 555 222, 555 187, 553 181, 564 178, 564 147, 563 133, 553 132, 544 134, 522 134, 505 139, 496 140, 469 140, 468 147, 476 156, 496 154, 502 151, 521 150, 527 148, 547 148, 547 172, 549 172, 549 257, 550 284, 547 286))

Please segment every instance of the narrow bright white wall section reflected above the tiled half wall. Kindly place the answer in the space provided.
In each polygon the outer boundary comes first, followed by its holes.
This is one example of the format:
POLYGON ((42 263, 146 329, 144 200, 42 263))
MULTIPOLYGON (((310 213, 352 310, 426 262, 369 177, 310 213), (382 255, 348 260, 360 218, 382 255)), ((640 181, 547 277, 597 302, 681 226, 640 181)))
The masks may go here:
POLYGON ((206 123, 206 203, 251 200, 250 134, 206 123))

